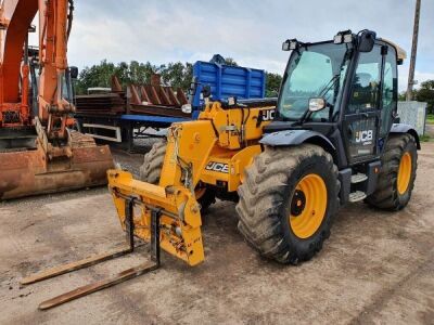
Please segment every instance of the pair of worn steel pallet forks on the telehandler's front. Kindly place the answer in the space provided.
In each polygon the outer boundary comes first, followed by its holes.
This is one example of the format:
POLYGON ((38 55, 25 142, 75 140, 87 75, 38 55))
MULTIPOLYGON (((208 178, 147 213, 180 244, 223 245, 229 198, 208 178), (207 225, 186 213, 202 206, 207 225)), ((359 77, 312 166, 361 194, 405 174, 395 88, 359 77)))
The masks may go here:
MULTIPOLYGON (((23 285, 29 285, 34 284, 37 282, 41 282, 48 278, 52 278, 65 273, 69 273, 73 271, 77 271, 80 269, 89 268, 91 265, 95 265, 98 263, 112 260, 122 256, 125 256, 127 253, 131 253, 135 251, 135 248, 138 246, 135 246, 135 223, 133 223, 133 207, 136 198, 133 197, 128 197, 126 198, 126 205, 125 205, 125 229, 126 229, 126 239, 127 239, 127 245, 124 246, 120 249, 111 251, 111 252, 105 252, 101 255, 97 255, 94 257, 86 258, 76 262, 67 263, 64 265, 60 266, 54 266, 52 269, 42 271, 40 273, 37 273, 35 275, 28 276, 24 280, 22 280, 21 284, 23 285)), ((72 291, 62 294, 60 296, 56 296, 52 299, 46 300, 39 304, 40 310, 47 310, 51 309, 53 307, 58 307, 60 304, 63 304, 65 302, 78 299, 80 297, 97 292, 99 290, 112 287, 114 285, 117 285, 119 283, 123 283, 127 280, 140 276, 144 273, 155 271, 159 268, 161 261, 159 261, 159 218, 162 216, 162 210, 158 208, 152 208, 151 209, 151 262, 145 262, 142 263, 138 266, 127 269, 114 276, 98 281, 95 283, 91 283, 81 287, 78 287, 72 291)))

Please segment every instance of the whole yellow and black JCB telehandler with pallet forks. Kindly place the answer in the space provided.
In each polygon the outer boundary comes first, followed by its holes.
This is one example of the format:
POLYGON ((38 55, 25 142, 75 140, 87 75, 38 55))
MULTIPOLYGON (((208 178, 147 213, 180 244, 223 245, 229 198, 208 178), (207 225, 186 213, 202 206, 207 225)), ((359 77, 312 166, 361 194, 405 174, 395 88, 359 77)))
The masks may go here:
POLYGON ((309 260, 330 235, 339 208, 365 200, 387 210, 409 202, 419 138, 396 123, 397 65, 406 54, 375 32, 283 43, 292 51, 277 107, 209 102, 199 120, 174 123, 144 157, 141 180, 108 170, 128 248, 54 268, 52 277, 151 242, 143 264, 43 302, 47 309, 159 266, 159 247, 196 265, 204 260, 201 211, 215 198, 238 202, 239 230, 260 255, 309 260), (276 108, 276 109, 275 109, 276 108))

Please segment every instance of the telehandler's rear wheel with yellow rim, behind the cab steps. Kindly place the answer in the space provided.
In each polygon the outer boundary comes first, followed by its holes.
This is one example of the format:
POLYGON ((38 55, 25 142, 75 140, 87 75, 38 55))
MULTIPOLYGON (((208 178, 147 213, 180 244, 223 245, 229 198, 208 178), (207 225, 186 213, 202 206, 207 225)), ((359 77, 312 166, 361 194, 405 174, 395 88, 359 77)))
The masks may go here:
POLYGON ((379 209, 404 209, 411 198, 418 168, 414 138, 407 133, 391 135, 381 160, 375 192, 366 202, 379 209))

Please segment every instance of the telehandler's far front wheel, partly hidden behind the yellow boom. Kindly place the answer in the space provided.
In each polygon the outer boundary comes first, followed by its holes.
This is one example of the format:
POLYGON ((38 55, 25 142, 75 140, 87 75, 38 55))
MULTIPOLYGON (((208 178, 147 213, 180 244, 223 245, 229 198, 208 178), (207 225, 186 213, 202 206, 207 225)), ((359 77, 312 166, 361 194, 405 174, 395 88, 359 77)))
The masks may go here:
MULTIPOLYGON (((156 142, 151 151, 144 155, 143 165, 140 167, 140 180, 151 184, 158 184, 162 173, 164 157, 166 155, 167 142, 156 142)), ((195 190, 196 200, 201 205, 201 212, 207 211, 210 205, 216 202, 213 190, 200 183, 195 190)))

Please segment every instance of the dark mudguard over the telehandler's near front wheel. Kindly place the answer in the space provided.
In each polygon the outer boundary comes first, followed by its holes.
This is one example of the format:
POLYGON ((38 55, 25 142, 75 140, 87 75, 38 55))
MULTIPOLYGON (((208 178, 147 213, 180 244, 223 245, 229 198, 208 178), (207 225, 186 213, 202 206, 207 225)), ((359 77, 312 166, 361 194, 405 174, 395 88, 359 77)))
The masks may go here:
POLYGON ((260 144, 270 146, 298 145, 305 142, 324 144, 328 150, 336 150, 334 145, 319 132, 310 130, 284 130, 264 135, 260 144))

